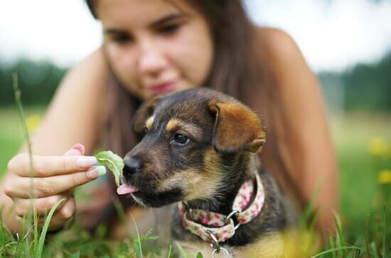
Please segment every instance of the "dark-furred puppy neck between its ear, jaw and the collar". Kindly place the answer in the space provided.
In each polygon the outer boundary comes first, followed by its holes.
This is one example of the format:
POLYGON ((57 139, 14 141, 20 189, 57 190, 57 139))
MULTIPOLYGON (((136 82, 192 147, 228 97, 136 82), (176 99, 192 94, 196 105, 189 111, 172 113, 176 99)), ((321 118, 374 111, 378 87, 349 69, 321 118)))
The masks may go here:
POLYGON ((212 211, 227 215, 232 212, 232 204, 242 186, 242 183, 254 178, 257 171, 255 154, 242 151, 240 154, 221 155, 223 182, 216 187, 214 195, 208 200, 192 200, 188 202, 189 208, 212 211))

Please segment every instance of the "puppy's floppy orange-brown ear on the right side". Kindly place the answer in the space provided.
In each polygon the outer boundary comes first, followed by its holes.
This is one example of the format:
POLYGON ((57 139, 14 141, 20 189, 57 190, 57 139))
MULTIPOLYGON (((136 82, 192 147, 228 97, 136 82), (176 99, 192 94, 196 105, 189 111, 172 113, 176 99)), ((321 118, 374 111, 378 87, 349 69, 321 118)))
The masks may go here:
POLYGON ((208 102, 215 114, 213 146, 222 153, 247 150, 257 152, 265 143, 266 132, 261 120, 249 107, 240 102, 208 102))

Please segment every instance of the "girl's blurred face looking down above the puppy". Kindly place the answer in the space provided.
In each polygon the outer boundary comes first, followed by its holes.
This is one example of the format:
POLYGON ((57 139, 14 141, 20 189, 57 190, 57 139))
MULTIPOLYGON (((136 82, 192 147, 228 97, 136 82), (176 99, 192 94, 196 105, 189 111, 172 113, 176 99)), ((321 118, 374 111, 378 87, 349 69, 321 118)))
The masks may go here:
POLYGON ((105 53, 140 99, 203 85, 213 63, 205 18, 185 1, 99 0, 105 53))

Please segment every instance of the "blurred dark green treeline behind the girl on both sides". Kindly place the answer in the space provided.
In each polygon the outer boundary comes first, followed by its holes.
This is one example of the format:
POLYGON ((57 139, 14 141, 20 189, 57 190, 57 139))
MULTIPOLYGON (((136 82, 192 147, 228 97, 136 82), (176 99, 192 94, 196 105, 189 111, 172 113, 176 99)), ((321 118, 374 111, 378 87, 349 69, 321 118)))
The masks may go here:
MULTIPOLYGON (((46 105, 67 70, 48 60, 0 63, 0 106, 14 105, 12 72, 19 74, 24 105, 46 105)), ((377 64, 358 64, 345 72, 320 72, 318 76, 331 112, 391 111, 391 53, 377 64)))

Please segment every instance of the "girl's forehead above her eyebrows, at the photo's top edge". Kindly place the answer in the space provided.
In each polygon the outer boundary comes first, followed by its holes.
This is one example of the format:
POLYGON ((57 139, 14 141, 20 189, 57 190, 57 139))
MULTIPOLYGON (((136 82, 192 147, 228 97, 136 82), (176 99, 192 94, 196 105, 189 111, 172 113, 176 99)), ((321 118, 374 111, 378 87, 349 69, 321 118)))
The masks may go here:
POLYGON ((97 16, 103 26, 146 26, 165 16, 196 14, 183 0, 98 0, 97 16))

